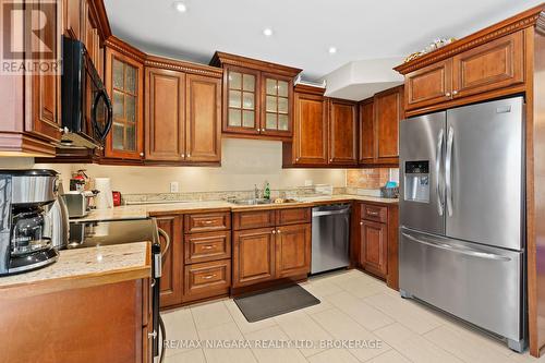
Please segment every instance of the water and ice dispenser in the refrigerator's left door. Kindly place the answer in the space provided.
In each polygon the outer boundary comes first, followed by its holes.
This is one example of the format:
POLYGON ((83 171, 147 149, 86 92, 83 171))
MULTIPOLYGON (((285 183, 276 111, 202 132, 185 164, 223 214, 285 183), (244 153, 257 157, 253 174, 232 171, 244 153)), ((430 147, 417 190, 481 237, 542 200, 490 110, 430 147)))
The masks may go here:
POLYGON ((405 161, 404 199, 429 203, 429 161, 405 161))

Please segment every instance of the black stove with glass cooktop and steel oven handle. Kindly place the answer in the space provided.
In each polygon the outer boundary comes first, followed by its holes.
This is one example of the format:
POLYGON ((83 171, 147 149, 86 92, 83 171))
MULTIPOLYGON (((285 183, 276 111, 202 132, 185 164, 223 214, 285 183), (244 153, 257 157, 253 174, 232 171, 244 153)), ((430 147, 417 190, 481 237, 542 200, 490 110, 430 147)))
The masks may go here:
POLYGON ((161 259, 166 257, 170 247, 170 239, 164 230, 157 227, 155 218, 98 222, 72 221, 70 223, 70 243, 66 249, 98 247, 101 245, 145 241, 152 242, 152 276, 154 278, 152 303, 154 325, 153 352, 154 356, 157 358, 159 352, 161 352, 161 355, 164 354, 162 342, 167 339, 162 319, 159 315, 159 294, 161 259))

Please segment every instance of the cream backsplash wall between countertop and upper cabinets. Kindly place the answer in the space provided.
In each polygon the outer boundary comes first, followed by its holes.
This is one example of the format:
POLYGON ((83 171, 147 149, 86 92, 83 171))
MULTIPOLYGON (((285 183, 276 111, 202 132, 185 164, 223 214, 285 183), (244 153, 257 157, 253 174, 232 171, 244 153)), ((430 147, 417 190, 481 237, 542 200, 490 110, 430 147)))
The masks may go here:
POLYGON ((220 168, 203 167, 126 167, 99 165, 34 165, 32 158, 0 158, 0 168, 50 168, 62 173, 64 185, 71 171, 87 169, 92 178, 111 178, 112 189, 125 194, 168 193, 171 181, 180 192, 251 190, 263 187, 267 180, 272 189, 314 184, 346 186, 344 169, 282 169, 280 142, 223 138, 220 168))

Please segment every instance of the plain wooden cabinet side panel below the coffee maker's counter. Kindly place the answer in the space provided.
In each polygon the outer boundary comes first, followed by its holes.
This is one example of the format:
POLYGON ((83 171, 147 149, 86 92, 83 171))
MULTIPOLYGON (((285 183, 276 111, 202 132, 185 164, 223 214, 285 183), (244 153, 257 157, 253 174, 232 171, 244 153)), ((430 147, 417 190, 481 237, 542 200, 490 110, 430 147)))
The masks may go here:
POLYGON ((150 363, 149 279, 0 299, 0 362, 150 363), (149 295, 149 294, 148 294, 149 295))

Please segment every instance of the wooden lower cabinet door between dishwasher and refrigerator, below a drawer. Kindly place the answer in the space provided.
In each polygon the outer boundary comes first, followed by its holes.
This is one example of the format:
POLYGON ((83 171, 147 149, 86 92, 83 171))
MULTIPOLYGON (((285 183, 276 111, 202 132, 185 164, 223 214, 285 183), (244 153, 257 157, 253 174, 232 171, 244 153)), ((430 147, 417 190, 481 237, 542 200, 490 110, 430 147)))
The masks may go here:
POLYGON ((388 261, 388 229, 386 223, 362 220, 361 252, 362 267, 379 277, 385 278, 388 261))

